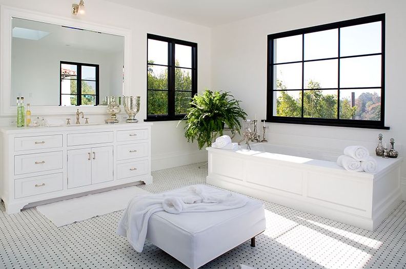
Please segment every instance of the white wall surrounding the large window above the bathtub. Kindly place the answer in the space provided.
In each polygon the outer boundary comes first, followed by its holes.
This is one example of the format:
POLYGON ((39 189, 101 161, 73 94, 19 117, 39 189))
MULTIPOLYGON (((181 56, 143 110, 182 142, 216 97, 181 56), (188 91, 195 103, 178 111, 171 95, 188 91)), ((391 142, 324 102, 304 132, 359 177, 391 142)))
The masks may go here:
MULTIPOLYGON (((386 13, 385 124, 389 131, 270 123, 268 140, 296 146, 342 150, 363 144, 373 151, 378 133, 406 146, 406 2, 404 0, 320 0, 212 29, 212 88, 232 91, 249 117, 265 119, 267 35, 386 13)), ((404 156, 404 147, 400 155, 404 156)), ((402 167, 406 199, 406 162, 402 167)))

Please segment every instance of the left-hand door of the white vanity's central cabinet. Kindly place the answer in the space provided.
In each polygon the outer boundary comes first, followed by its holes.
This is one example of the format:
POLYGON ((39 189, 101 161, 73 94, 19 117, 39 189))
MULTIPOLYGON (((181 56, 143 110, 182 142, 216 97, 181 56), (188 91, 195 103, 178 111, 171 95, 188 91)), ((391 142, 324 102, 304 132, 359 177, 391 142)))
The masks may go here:
POLYGON ((91 183, 91 149, 68 150, 68 189, 91 183))

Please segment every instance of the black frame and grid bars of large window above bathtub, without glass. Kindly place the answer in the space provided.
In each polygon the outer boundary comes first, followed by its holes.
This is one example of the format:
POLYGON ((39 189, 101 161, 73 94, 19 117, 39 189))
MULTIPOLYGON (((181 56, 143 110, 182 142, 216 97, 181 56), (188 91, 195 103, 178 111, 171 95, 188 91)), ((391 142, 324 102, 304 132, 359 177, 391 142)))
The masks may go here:
MULTIPOLYGON (((339 31, 338 31, 339 32, 339 31)), ((338 38, 340 38, 340 34, 338 34, 338 38)), ((304 43, 302 44, 304 47, 304 43)), ((340 40, 338 39, 338 50, 340 46, 340 40)), ((302 29, 296 29, 296 30, 291 30, 291 31, 286 31, 286 32, 280 32, 280 33, 275 33, 275 34, 269 34, 268 39, 267 39, 267 122, 279 122, 279 123, 295 123, 295 124, 302 124, 302 125, 320 125, 320 126, 338 126, 338 127, 353 127, 353 128, 369 128, 369 129, 384 129, 384 130, 389 130, 389 127, 385 127, 384 125, 384 119, 385 119, 385 14, 377 14, 377 15, 372 15, 372 16, 366 16, 366 17, 361 17, 361 18, 355 18, 355 19, 349 19, 349 20, 343 20, 341 22, 335 22, 335 23, 329 23, 329 24, 324 24, 324 25, 318 25, 318 26, 313 26, 313 27, 307 27, 307 28, 302 28, 302 29), (336 119, 322 119, 322 118, 305 118, 305 117, 282 117, 282 116, 274 116, 273 115, 273 80, 274 80, 274 74, 273 74, 273 66, 274 65, 280 65, 284 63, 277 63, 273 64, 273 57, 274 57, 274 51, 273 51, 273 40, 276 38, 282 38, 282 37, 288 37, 288 36, 294 36, 294 35, 302 35, 302 42, 304 39, 304 34, 308 33, 313 33, 313 32, 318 32, 318 31, 325 31, 325 30, 331 30, 331 29, 338 29, 338 28, 343 28, 343 27, 349 27, 349 26, 355 26, 355 25, 360 25, 360 24, 367 24, 367 23, 374 23, 374 22, 381 22, 382 27, 381 27, 381 53, 371 53, 371 54, 360 54, 360 55, 351 55, 351 56, 340 56, 338 54, 337 57, 333 58, 323 58, 323 59, 312 59, 312 60, 304 60, 304 57, 302 56, 302 60, 297 61, 297 63, 304 63, 308 61, 316 61, 316 60, 328 60, 328 59, 338 59, 338 95, 337 95, 337 100, 338 100, 338 105, 337 105, 337 118, 336 119), (372 89, 372 88, 380 88, 381 89, 381 118, 379 121, 377 120, 357 120, 357 119, 340 119, 339 118, 339 90, 340 89, 345 89, 345 88, 340 88, 339 85, 339 65, 340 65, 340 59, 341 58, 351 58, 351 57, 359 57, 359 56, 373 56, 373 55, 381 55, 381 87, 353 87, 351 89, 372 89)), ((304 54, 304 50, 302 51, 302 54, 304 54)), ((294 63, 294 61, 289 62, 294 63)), ((285 63, 286 64, 286 63, 285 63)), ((302 72, 303 72, 302 68, 302 72)), ((302 74, 302 84, 303 84, 303 74, 302 74)), ((304 89, 302 85, 302 89, 304 89)), ((300 90, 302 90, 300 89, 300 90)), ((288 90, 289 91, 289 90, 288 90)), ((303 102, 303 98, 302 98, 303 102)), ((302 104, 302 110, 303 110, 303 104, 302 104)))

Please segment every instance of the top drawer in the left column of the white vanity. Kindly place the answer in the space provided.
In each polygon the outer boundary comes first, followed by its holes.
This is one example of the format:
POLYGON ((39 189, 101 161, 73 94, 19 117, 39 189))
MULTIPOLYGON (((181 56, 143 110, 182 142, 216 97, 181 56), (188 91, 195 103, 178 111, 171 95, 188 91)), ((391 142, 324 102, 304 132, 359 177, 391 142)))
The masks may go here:
POLYGON ((62 147, 62 135, 41 135, 14 138, 14 151, 62 147))

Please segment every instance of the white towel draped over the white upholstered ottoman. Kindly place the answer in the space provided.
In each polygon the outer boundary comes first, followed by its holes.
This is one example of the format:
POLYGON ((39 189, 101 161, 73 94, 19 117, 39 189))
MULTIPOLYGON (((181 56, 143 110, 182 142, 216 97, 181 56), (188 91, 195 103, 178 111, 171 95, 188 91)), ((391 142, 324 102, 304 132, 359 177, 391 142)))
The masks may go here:
POLYGON ((193 185, 190 188, 163 194, 134 197, 118 223, 117 234, 127 237, 137 252, 144 249, 148 221, 152 214, 166 211, 172 214, 182 212, 210 212, 241 208, 247 198, 235 193, 193 185))

